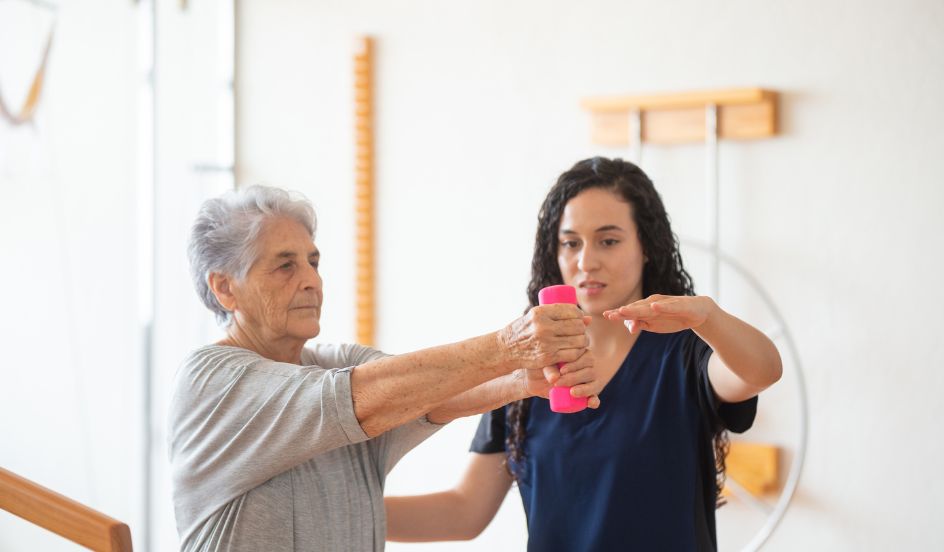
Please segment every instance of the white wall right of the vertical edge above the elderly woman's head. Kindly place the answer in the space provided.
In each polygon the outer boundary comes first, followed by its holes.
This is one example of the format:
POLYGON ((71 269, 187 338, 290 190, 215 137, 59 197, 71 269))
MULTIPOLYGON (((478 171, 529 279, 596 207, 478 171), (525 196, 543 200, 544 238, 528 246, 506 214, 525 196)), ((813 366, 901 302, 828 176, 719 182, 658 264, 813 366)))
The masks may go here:
MULTIPOLYGON (((810 392, 807 469, 769 549, 944 547, 944 4, 237 5, 237 176, 318 207, 328 341, 353 338, 352 37, 377 37, 378 339, 391 352, 520 312, 543 193, 574 161, 622 153, 590 145, 581 98, 782 91, 781 136, 722 147, 722 241, 780 305, 810 392), (468 288, 482 300, 457 303, 468 288)), ((682 235, 705 234, 701 167, 697 147, 644 161, 682 235)), ((453 483, 473 427, 411 453, 390 492, 453 483)), ((522 523, 511 495, 477 541, 390 549, 521 549, 522 523)))

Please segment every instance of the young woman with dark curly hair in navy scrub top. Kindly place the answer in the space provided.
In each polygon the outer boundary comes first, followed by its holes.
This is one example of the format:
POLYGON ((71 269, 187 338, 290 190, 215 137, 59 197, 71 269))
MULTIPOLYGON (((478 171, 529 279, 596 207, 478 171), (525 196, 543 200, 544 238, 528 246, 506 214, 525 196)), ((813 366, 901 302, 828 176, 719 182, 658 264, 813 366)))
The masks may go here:
MULTIPOLYGON (((596 377, 571 394, 593 408, 557 414, 532 397, 483 415, 456 488, 386 499, 388 540, 474 538, 516 481, 528 550, 716 550, 727 432, 753 424, 781 375, 777 349, 695 295, 662 200, 632 163, 596 157, 560 176, 531 267, 530 305, 568 284, 592 317, 596 377)), ((570 386, 568 368, 544 372, 570 386)))

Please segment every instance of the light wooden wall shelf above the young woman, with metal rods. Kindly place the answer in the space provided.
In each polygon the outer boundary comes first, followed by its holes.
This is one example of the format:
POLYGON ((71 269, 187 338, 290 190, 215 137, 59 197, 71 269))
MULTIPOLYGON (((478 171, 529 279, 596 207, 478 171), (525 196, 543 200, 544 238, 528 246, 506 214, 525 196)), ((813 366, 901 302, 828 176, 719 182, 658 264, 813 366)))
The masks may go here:
POLYGON ((718 137, 753 140, 777 134, 778 94, 763 88, 730 88, 588 98, 591 140, 603 146, 628 146, 630 118, 638 112, 643 143, 682 144, 705 140, 705 111, 718 110, 718 137))

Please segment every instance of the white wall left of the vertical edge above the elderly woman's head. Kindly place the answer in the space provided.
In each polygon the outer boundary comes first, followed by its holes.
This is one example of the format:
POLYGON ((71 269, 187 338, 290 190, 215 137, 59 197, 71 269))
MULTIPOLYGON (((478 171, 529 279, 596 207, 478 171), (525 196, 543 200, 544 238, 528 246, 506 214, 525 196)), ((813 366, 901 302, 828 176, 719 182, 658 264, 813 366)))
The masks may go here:
MULTIPOLYGON (((143 551, 177 547, 169 389, 186 353, 219 333, 185 247, 199 204, 232 174, 194 167, 233 162, 232 4, 153 8, 0 2, 0 93, 14 109, 56 27, 35 122, 0 120, 0 466, 128 523, 143 551)), ((0 512, 0 550, 74 549, 0 512)))

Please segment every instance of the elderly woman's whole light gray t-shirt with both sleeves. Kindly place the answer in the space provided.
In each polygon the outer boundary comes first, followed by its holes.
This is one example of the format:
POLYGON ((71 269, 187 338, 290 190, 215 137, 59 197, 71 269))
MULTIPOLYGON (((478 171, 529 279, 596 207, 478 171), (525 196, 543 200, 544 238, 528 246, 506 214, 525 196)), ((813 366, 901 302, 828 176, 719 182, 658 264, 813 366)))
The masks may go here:
POLYGON ((368 439, 351 370, 384 356, 316 345, 298 366, 237 347, 194 351, 169 420, 181 549, 383 550, 384 479, 441 427, 424 417, 368 439))

